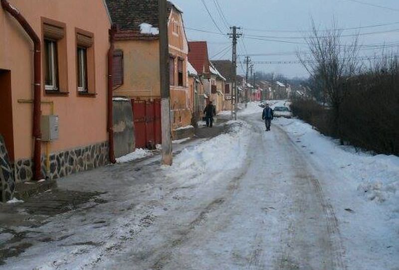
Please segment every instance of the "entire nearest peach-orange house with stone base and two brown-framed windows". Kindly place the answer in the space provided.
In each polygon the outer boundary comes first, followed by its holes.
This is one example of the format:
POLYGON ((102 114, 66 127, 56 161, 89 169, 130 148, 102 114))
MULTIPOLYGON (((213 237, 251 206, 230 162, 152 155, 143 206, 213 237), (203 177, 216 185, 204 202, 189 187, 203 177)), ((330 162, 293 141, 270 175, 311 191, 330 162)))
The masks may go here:
POLYGON ((111 22, 104 0, 1 4, 0 134, 16 181, 106 164, 111 22))

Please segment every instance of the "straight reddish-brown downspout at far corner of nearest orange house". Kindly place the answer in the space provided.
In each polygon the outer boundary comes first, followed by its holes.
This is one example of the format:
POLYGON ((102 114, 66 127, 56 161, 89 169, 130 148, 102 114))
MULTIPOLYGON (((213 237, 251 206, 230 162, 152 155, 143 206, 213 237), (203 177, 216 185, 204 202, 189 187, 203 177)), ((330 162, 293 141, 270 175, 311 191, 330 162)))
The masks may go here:
POLYGON ((111 163, 116 163, 115 159, 115 152, 114 152, 114 129, 113 129, 113 112, 112 112, 112 91, 113 91, 113 84, 112 84, 112 60, 114 57, 114 36, 115 36, 115 27, 111 26, 109 30, 110 36, 110 47, 108 50, 108 100, 107 100, 107 107, 108 107, 108 118, 107 118, 107 131, 108 131, 108 157, 111 163))

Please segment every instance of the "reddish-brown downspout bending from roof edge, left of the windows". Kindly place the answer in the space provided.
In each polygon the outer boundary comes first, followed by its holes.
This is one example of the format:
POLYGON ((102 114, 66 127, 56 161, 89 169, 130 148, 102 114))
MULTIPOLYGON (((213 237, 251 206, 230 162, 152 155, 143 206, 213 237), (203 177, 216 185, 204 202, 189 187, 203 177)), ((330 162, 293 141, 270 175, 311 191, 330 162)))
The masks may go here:
POLYGON ((33 179, 38 181, 42 178, 41 175, 41 133, 40 133, 40 103, 41 103, 41 53, 40 53, 40 38, 34 32, 26 19, 21 15, 19 10, 12 6, 7 0, 1 0, 1 6, 12 17, 14 17, 25 32, 29 35, 33 42, 33 79, 34 79, 34 94, 33 94, 33 179))

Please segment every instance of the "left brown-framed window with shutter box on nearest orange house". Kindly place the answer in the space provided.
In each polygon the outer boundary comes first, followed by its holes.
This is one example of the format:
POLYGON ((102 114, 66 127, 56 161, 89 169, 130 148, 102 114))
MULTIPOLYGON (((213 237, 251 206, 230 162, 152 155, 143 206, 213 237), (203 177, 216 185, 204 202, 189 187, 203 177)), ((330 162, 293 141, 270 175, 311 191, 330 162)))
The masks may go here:
POLYGON ((68 93, 68 66, 65 24, 42 19, 43 77, 45 94, 68 93))

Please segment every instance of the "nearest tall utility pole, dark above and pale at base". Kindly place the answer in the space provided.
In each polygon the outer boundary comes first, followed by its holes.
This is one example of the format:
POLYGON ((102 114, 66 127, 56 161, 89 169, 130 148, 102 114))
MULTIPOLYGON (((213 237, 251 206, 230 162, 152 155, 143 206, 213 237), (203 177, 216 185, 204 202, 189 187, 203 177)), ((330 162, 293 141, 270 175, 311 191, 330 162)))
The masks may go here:
POLYGON ((159 6, 159 63, 161 79, 161 130, 162 164, 172 165, 171 92, 169 81, 169 40, 166 0, 158 0, 159 6))

